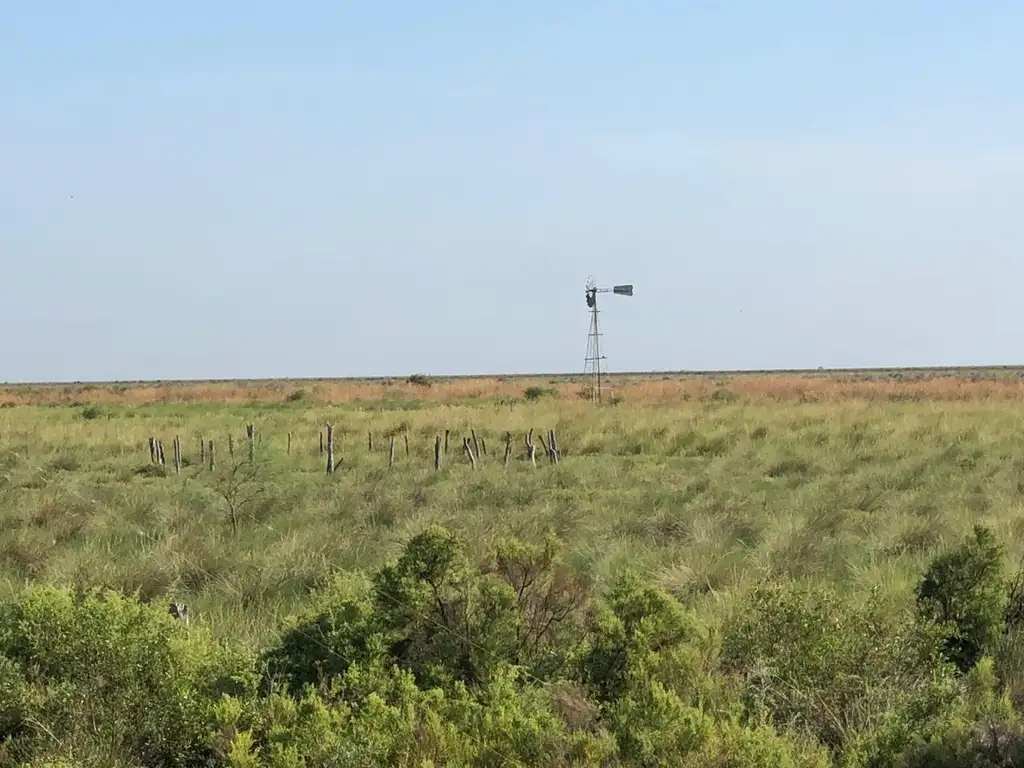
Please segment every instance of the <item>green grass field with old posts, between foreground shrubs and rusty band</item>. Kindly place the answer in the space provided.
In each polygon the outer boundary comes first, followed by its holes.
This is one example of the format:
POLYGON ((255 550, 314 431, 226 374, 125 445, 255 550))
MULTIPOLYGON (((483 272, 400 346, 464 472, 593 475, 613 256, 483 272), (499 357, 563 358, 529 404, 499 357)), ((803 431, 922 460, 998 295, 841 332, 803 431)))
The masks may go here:
POLYGON ((194 622, 259 647, 337 570, 376 567, 438 522, 481 555, 499 537, 554 530, 599 586, 632 566, 709 622, 765 579, 910 601, 929 560, 976 522, 1021 555, 1022 422, 1013 404, 983 401, 3 409, 0 598, 27 582, 112 587, 185 602, 194 622), (339 459, 330 477, 317 440, 327 421, 339 459), (227 434, 245 458, 247 422, 261 436, 261 495, 236 534, 220 489, 227 434), (461 451, 471 428, 488 453, 476 472, 461 451), (556 430, 557 466, 539 438, 536 469, 524 460, 530 428, 556 430), (435 472, 444 429, 451 450, 435 472), (399 435, 391 469, 389 434, 399 435), (164 441, 166 473, 150 463, 151 435, 164 441), (201 436, 216 442, 214 473, 200 466, 201 436))

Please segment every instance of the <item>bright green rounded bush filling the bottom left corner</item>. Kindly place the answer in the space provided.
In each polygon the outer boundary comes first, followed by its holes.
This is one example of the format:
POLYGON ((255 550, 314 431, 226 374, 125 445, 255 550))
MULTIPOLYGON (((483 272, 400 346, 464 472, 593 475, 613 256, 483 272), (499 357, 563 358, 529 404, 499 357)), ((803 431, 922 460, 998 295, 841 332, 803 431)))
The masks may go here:
POLYGON ((245 656, 166 610, 112 593, 36 587, 0 605, 0 763, 195 766, 245 656))

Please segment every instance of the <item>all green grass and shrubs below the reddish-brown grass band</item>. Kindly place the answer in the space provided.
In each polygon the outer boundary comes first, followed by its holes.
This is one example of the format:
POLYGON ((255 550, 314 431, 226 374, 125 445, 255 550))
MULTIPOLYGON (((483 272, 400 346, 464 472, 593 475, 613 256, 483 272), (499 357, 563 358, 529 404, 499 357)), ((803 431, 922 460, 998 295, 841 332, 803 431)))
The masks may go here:
POLYGON ((0 412, 0 766, 1024 763, 1005 406, 307 391, 0 412))

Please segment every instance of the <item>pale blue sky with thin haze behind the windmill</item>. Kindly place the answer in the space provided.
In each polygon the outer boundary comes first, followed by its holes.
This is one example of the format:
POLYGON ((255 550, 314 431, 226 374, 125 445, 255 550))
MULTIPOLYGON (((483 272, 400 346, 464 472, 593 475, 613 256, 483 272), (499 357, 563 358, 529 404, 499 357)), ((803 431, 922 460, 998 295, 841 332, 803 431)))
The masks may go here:
POLYGON ((1024 5, 0 0, 0 381, 1024 362, 1024 5))

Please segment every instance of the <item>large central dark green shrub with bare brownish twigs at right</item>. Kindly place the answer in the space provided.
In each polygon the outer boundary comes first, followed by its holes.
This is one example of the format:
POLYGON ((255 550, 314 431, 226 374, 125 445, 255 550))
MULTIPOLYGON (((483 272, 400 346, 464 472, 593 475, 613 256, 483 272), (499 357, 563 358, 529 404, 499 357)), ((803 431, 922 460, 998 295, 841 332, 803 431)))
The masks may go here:
POLYGON ((579 645, 586 586, 561 566, 560 545, 506 541, 473 567, 440 526, 414 537, 372 579, 347 574, 266 654, 275 680, 297 688, 381 660, 421 686, 485 682, 503 665, 554 677, 579 645))

